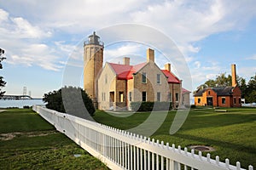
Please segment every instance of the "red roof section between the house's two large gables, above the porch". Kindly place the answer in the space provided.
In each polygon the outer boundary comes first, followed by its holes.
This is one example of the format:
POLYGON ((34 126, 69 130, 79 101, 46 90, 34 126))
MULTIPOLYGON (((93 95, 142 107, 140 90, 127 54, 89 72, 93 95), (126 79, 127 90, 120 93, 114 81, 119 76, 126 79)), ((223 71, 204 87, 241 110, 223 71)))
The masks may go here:
POLYGON ((115 71, 119 80, 132 79, 133 78, 132 74, 139 71, 146 64, 147 63, 141 63, 138 65, 119 65, 119 64, 109 63, 109 65, 111 65, 111 67, 113 68, 113 71, 115 71))

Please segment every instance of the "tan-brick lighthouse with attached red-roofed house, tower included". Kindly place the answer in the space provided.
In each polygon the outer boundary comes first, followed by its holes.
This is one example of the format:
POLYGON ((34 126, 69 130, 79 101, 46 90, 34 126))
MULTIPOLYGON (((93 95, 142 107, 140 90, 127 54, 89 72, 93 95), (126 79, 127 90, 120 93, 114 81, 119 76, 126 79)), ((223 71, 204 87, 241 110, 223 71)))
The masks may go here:
POLYGON ((130 65, 130 58, 125 57, 123 64, 106 62, 102 68, 103 45, 99 43, 95 32, 84 42, 84 89, 97 108, 129 109, 134 101, 171 101, 173 108, 189 103, 182 101, 189 99, 189 91, 183 94, 182 81, 170 64, 164 70, 155 64, 153 49, 148 48, 144 63, 130 65))

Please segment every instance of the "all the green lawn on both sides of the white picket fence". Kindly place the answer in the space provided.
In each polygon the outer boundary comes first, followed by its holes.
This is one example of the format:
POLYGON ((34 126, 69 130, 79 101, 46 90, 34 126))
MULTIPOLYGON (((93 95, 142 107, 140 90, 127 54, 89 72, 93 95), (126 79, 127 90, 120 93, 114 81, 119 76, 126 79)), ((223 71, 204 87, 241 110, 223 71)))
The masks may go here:
MULTIPOLYGON (((241 167, 256 167, 256 109, 191 110, 183 127, 170 135, 175 114, 170 111, 151 138, 182 147, 210 145, 216 149, 211 152, 212 158, 218 155, 221 161, 230 158, 233 165, 241 161, 241 167)), ((94 118, 112 127, 129 129, 140 125, 149 115, 146 112, 119 117, 96 111, 94 118)), ((31 110, 0 112, 0 137, 3 133, 15 134, 15 137, 0 139, 0 169, 108 169, 31 110), (74 154, 81 156, 76 158, 74 154)))

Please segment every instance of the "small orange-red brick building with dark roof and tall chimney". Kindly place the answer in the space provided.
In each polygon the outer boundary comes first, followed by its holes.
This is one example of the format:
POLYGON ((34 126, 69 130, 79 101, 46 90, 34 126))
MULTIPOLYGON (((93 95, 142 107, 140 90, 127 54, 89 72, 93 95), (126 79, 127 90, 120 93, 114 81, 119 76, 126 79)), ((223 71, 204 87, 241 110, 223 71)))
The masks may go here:
POLYGON ((195 105, 241 107, 241 90, 236 83, 236 65, 231 65, 232 86, 198 89, 195 105))

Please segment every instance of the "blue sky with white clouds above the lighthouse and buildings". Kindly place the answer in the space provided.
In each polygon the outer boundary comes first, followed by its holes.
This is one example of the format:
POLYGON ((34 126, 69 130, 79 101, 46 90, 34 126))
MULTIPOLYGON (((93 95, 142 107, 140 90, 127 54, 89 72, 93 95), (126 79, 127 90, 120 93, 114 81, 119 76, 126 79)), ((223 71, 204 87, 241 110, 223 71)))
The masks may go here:
POLYGON ((160 68, 170 62, 190 91, 220 73, 230 74, 231 64, 248 81, 256 73, 255 9, 254 0, 0 0, 0 48, 7 58, 0 70, 7 82, 3 90, 23 94, 26 87, 27 94, 42 98, 63 86, 67 65, 80 68, 76 76, 82 87, 83 42, 93 31, 105 42, 104 62, 120 62, 124 56, 131 57, 131 64, 143 62, 148 46, 160 47, 155 48, 155 62, 160 68), (144 28, 148 39, 156 35, 167 39, 125 41, 126 34, 135 35, 138 28, 144 28), (117 32, 119 39, 112 42, 117 32), (164 43, 168 40, 183 54, 186 65, 177 65, 175 54, 166 56, 160 50, 171 48, 164 43))

